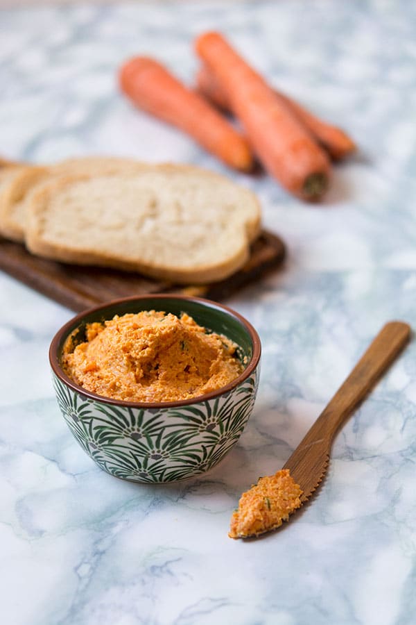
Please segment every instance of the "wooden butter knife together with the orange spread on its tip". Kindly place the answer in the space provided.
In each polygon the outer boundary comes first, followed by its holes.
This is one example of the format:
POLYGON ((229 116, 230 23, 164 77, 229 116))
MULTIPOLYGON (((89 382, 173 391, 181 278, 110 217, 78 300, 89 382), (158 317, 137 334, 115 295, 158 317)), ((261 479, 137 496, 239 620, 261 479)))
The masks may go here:
POLYGON ((259 478, 242 494, 231 518, 229 537, 252 538, 288 521, 320 485, 333 438, 410 338, 410 326, 389 322, 333 396, 283 469, 259 478))

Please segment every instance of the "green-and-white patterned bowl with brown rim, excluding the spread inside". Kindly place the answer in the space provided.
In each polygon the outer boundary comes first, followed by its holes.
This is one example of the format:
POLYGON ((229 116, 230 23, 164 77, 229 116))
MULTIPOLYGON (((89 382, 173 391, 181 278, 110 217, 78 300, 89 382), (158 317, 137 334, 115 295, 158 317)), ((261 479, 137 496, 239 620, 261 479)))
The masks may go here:
POLYGON ((205 473, 239 440, 257 393, 260 352, 257 332, 230 308, 196 297, 146 295, 112 301, 71 319, 53 338, 49 360, 62 415, 92 460, 116 477, 160 483, 205 473), (243 373, 214 392, 163 403, 101 397, 64 374, 62 348, 76 328, 82 331, 86 323, 141 310, 185 312, 226 335, 239 344, 239 358, 246 358, 243 373))

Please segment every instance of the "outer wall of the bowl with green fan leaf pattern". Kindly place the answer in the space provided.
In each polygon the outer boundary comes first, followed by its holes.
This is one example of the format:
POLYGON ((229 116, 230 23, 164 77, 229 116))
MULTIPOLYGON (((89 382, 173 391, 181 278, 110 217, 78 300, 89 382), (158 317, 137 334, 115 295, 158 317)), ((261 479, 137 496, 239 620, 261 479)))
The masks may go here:
POLYGON ((157 483, 202 474, 225 456, 252 412, 258 373, 220 397, 162 410, 95 401, 55 375, 53 385, 65 422, 101 469, 157 483))

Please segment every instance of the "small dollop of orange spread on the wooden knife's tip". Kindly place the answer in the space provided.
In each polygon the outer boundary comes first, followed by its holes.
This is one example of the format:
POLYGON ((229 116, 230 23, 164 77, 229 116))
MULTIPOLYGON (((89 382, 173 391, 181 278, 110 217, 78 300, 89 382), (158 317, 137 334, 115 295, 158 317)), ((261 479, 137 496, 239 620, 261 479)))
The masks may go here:
POLYGON ((302 490, 288 469, 259 478, 256 485, 241 495, 233 513, 230 538, 248 538, 276 529, 296 508, 300 508, 302 490))

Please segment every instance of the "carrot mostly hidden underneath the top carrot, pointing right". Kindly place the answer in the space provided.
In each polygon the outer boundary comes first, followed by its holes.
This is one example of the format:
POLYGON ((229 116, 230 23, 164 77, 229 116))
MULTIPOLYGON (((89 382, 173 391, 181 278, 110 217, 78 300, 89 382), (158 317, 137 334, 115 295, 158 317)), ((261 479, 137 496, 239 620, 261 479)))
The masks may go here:
MULTIPOLYGON (((196 75, 196 89, 198 93, 205 96, 221 110, 229 110, 227 96, 220 88, 215 76, 209 72, 209 69, 205 65, 200 67, 196 75)), ((319 117, 310 113, 309 110, 281 91, 274 90, 274 92, 276 97, 283 99, 289 108, 291 108, 292 113, 295 113, 300 122, 308 128, 315 140, 327 150, 333 160, 342 160, 356 151, 356 144, 341 128, 331 126, 331 124, 319 119, 319 117)))

